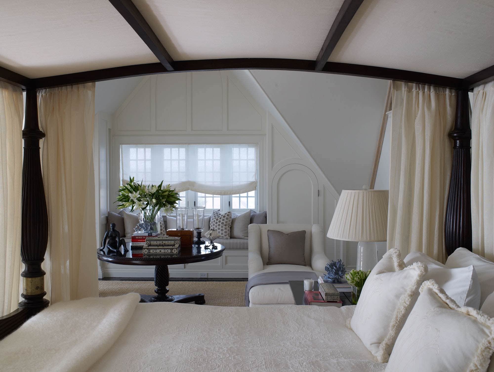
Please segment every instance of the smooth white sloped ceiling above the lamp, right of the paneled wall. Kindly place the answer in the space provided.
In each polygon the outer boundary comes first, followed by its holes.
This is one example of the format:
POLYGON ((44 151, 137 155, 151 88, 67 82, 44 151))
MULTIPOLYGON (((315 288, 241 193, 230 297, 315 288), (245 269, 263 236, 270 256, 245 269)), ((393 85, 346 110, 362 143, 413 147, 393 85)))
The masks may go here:
POLYGON ((251 72, 338 193, 369 185, 387 81, 251 72))

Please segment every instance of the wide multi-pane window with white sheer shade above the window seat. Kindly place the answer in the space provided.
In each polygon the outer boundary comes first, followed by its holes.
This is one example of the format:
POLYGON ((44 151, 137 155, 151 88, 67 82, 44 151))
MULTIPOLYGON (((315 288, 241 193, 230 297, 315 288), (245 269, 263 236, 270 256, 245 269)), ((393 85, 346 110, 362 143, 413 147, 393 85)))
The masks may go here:
POLYGON ((257 185, 257 161, 256 145, 121 145, 122 180, 163 180, 179 191, 179 207, 256 209, 257 191, 233 192, 257 185))

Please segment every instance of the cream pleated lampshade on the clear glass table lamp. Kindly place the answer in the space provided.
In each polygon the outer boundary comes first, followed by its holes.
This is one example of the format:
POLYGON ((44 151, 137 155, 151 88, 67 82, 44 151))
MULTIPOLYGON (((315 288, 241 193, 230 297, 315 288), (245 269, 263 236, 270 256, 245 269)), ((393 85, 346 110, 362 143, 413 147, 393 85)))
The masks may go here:
POLYGON ((388 190, 343 190, 328 238, 350 242, 386 241, 388 200, 388 190))

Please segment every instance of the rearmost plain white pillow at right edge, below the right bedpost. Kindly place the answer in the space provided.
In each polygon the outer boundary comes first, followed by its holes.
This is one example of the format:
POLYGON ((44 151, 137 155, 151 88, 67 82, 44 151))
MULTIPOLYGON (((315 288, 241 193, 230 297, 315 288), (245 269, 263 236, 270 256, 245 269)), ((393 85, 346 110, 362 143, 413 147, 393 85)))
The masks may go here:
POLYGON ((446 260, 446 266, 451 268, 470 265, 475 267, 475 272, 479 278, 480 306, 482 306, 487 296, 494 292, 494 262, 472 253, 466 248, 457 248, 446 260))

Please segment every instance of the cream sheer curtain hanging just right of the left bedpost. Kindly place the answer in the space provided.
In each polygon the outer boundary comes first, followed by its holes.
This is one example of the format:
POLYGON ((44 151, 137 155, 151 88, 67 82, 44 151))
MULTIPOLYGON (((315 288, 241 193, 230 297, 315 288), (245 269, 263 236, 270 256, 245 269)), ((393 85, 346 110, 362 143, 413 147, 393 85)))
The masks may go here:
POLYGON ((50 301, 98 296, 93 132, 94 83, 38 92, 48 207, 50 301))

